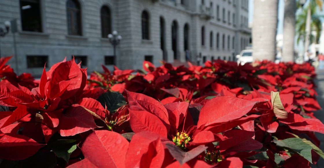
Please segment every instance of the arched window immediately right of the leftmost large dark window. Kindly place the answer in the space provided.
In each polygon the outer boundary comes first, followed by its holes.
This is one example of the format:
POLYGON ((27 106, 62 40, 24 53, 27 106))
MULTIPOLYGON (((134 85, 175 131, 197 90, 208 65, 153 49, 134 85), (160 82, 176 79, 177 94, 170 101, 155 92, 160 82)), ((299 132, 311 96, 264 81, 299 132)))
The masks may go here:
POLYGON ((81 31, 81 9, 76 0, 67 0, 67 28, 70 35, 82 35, 81 31))

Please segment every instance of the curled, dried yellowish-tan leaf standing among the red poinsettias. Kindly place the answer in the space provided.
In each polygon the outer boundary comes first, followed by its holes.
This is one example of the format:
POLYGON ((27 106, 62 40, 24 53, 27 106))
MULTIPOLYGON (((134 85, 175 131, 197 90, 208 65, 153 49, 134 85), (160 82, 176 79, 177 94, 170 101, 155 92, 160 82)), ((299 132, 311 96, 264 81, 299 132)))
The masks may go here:
POLYGON ((273 113, 277 118, 285 119, 288 117, 287 111, 280 100, 279 92, 271 91, 271 103, 273 107, 273 113))

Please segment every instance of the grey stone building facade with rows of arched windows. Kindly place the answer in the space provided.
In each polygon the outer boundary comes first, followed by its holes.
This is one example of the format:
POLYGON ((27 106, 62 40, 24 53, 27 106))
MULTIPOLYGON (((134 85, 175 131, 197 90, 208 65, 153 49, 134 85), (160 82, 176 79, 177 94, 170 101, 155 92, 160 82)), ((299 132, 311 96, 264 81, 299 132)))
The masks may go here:
POLYGON ((102 71, 142 69, 144 60, 234 60, 249 45, 248 0, 1 0, 0 26, 17 32, 0 39, 1 56, 16 72, 39 76, 65 57, 102 71), (122 36, 113 54, 107 35, 122 36))

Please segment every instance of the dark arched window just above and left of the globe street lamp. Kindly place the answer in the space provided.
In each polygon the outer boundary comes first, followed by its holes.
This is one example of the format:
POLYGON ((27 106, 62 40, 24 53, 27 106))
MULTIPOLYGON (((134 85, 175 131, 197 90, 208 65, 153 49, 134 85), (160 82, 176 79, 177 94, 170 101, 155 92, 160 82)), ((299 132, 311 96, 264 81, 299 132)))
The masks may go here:
POLYGON ((107 6, 102 6, 100 10, 101 16, 101 37, 108 38, 111 33, 111 15, 107 6))

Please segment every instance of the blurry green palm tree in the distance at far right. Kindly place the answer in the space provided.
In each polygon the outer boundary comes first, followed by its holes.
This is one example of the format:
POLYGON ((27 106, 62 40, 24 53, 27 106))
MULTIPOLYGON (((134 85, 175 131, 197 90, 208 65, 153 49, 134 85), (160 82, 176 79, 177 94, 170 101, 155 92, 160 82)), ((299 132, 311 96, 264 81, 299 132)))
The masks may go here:
MULTIPOLYGON (((321 6, 320 6, 321 7, 321 6)), ((316 15, 317 5, 309 4, 306 8, 303 8, 302 11, 297 15, 296 18, 296 36, 297 36, 297 43, 301 40, 305 43, 305 50, 308 49, 309 43, 318 43, 319 38, 322 31, 322 22, 319 15, 316 15), (310 28, 307 29, 307 15, 311 13, 310 19, 310 28), (313 34, 310 32, 315 31, 316 36, 314 37, 313 34), (309 37, 305 38, 305 37, 309 37), (307 42, 308 41, 308 42, 307 42)))

